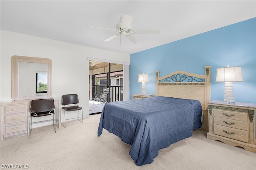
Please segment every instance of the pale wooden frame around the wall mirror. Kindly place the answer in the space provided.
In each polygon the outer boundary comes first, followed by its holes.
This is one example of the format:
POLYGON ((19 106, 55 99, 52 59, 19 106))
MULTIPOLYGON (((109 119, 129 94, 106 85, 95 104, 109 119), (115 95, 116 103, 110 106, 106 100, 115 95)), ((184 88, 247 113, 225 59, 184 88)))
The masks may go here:
POLYGON ((42 99, 52 97, 52 60, 48 58, 12 56, 12 99, 26 100, 26 99, 42 99), (18 96, 18 62, 26 63, 45 63, 47 64, 47 96, 18 96))

